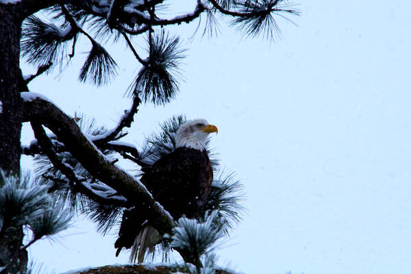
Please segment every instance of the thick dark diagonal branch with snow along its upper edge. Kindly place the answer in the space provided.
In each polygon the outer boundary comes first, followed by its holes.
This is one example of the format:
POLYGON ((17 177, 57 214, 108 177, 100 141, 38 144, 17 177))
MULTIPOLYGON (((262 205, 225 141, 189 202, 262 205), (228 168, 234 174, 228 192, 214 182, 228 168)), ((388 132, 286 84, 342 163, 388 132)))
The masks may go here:
POLYGON ((75 157, 84 169, 99 181, 107 184, 120 195, 132 201, 135 206, 149 212, 150 223, 160 233, 171 233, 174 221, 138 179, 135 179, 99 151, 82 134, 78 125, 53 103, 37 98, 23 103, 23 121, 36 121, 45 125, 64 143, 66 149, 75 157))

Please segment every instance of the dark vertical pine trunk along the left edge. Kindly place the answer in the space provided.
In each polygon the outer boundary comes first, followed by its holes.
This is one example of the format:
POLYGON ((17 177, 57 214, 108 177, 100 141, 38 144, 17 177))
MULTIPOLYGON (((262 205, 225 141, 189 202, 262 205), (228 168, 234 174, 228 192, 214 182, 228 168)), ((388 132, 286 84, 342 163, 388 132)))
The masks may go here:
MULTIPOLYGON (((23 102, 18 90, 21 72, 20 58, 21 18, 12 11, 12 5, 0 4, 0 169, 6 175, 20 175, 20 137, 23 102)), ((23 229, 1 232, 0 266, 5 266, 21 247, 23 229)), ((9 273, 25 273, 27 252, 21 252, 9 273)))

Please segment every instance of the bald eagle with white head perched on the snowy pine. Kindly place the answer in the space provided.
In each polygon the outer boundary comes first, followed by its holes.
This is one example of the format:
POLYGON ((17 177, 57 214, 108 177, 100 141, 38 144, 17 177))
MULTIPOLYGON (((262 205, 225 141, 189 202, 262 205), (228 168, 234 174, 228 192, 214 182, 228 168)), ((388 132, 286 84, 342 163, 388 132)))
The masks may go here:
MULTIPOLYGON (((175 134, 176 149, 151 166, 142 168, 140 181, 173 219, 201 216, 213 180, 212 164, 206 151, 209 134, 218 132, 204 119, 188 121, 175 134)), ((116 256, 132 247, 130 260, 144 260, 145 252, 159 242, 160 235, 147 223, 145 212, 132 208, 123 212, 116 240, 116 256)))

